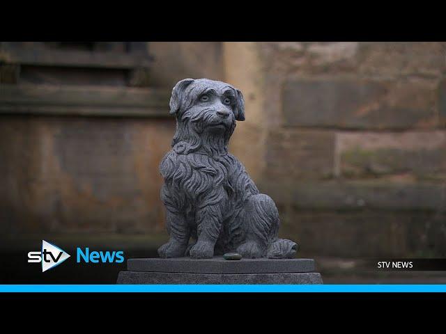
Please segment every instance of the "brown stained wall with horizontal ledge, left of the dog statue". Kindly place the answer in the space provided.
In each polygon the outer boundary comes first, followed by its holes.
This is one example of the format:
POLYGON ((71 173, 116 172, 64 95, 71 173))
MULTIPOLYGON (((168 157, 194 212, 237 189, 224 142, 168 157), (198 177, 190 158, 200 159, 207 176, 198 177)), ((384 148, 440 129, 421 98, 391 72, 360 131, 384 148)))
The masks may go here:
POLYGON ((128 80, 141 79, 139 69, 124 72, 132 59, 116 51, 105 57, 111 65, 97 61, 103 67, 92 70, 90 54, 78 49, 68 54, 73 67, 52 67, 48 59, 58 54, 40 45, 15 54, 0 49, 0 58, 33 62, 21 64, 13 81, 0 77, 2 240, 28 234, 31 241, 36 234, 73 235, 75 243, 102 234, 167 238, 158 166, 175 131, 171 88, 184 77, 222 79, 222 52, 213 42, 146 47, 153 63, 142 87, 128 80))

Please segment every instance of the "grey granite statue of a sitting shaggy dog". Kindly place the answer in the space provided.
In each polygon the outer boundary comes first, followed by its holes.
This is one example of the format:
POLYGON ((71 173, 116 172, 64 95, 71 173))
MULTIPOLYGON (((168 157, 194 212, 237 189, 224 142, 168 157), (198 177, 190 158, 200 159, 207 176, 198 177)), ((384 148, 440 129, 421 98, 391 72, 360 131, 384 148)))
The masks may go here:
POLYGON ((158 249, 160 257, 294 257, 297 244, 277 237, 275 202, 228 153, 236 120, 245 120, 240 90, 222 81, 183 79, 169 106, 176 134, 160 173, 170 239, 158 249))

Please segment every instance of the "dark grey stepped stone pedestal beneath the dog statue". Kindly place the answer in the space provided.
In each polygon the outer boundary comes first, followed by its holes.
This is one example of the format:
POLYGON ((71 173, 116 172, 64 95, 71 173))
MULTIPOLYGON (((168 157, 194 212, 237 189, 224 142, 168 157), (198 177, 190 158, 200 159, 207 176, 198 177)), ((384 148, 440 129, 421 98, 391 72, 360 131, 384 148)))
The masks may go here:
POLYGON ((118 284, 323 284, 312 259, 129 259, 118 284))

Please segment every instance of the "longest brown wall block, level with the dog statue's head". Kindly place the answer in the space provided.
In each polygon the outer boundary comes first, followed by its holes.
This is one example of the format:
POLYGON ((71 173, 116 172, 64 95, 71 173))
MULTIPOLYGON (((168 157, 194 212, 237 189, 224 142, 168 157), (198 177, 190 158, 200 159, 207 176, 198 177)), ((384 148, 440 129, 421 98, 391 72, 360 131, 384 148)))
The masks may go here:
POLYGON ((436 126, 436 89, 436 81, 429 79, 294 79, 284 86, 284 124, 352 129, 436 126))

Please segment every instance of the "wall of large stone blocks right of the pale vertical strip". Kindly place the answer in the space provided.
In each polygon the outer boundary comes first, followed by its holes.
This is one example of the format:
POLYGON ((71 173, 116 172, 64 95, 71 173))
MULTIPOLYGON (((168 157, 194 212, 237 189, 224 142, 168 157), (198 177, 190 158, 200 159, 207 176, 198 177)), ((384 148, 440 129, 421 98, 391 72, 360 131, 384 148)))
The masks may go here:
POLYGON ((244 47, 264 88, 257 182, 282 233, 310 255, 445 256, 446 43, 244 47))

